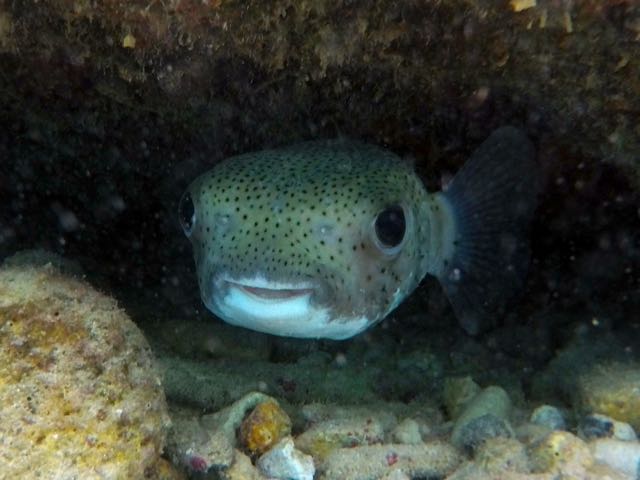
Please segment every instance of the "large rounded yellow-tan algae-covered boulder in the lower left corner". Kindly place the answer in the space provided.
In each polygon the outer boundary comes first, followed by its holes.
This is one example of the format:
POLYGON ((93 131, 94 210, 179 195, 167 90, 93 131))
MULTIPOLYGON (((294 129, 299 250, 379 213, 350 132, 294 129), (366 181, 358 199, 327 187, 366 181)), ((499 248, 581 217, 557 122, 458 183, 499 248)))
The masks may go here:
POLYGON ((0 405, 3 478, 171 478, 142 333, 113 299, 51 266, 0 269, 0 405))

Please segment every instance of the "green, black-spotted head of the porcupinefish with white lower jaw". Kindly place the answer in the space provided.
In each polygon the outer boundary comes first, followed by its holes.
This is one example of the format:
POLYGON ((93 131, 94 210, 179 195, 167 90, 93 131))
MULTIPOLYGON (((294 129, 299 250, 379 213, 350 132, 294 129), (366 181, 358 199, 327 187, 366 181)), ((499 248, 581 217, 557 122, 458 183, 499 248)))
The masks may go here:
POLYGON ((426 273, 427 192, 383 149, 308 142, 227 159, 180 202, 202 299, 228 323, 349 338, 426 273))

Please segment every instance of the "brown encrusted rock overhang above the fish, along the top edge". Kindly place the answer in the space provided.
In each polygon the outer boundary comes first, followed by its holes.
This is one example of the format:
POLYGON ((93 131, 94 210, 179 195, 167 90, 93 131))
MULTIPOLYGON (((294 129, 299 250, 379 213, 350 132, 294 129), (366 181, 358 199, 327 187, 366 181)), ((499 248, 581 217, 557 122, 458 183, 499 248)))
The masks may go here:
MULTIPOLYGON (((3 100, 107 109, 84 119, 88 130, 129 110, 167 127, 252 128, 251 140, 225 137, 235 148, 310 136, 327 122, 409 148, 439 109, 486 117, 508 98, 509 113, 532 127, 632 167, 639 40, 640 7, 624 0, 0 6, 3 100)), ((483 128, 504 117, 492 120, 483 128)))

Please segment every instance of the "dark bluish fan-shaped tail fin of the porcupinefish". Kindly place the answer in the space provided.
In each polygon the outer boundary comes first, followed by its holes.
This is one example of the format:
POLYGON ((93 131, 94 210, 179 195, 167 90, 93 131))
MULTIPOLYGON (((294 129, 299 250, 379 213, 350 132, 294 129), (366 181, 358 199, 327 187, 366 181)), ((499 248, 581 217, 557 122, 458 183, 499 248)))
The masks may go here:
POLYGON ((437 274, 461 326, 471 335, 495 326, 524 286, 529 225, 537 205, 540 170, 524 133, 502 127, 473 153, 446 192, 450 212, 437 274))

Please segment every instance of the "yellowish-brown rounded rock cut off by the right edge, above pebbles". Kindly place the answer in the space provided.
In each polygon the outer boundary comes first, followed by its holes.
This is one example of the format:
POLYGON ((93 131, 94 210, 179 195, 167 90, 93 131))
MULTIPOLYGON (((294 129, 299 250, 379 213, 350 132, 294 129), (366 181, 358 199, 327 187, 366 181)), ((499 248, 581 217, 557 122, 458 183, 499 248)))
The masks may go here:
POLYGON ((578 379, 575 403, 585 413, 602 413, 640 431, 640 365, 611 363, 578 379))

